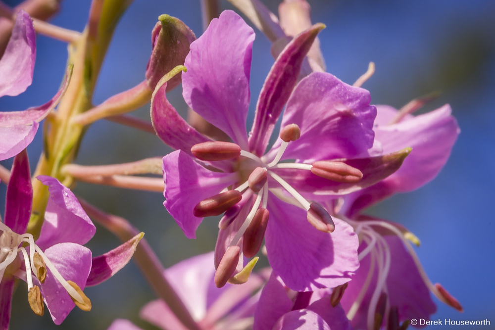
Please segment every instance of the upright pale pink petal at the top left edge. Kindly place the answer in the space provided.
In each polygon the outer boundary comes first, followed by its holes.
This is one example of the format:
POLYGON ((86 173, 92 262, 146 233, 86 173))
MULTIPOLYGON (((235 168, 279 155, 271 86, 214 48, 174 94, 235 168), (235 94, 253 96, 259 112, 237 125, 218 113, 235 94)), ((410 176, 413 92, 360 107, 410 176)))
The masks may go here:
POLYGON ((33 81, 36 34, 29 14, 19 10, 12 35, 0 59, 0 96, 24 92, 33 81))

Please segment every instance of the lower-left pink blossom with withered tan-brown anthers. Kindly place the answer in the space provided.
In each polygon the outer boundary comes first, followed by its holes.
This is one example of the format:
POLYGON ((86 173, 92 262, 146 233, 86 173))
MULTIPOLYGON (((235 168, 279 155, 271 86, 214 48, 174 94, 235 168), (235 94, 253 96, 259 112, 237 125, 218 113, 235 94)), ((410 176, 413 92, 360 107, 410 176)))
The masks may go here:
POLYGON ((3 223, 0 222, 0 329, 8 328, 14 277, 27 283, 31 309, 43 315, 44 300, 53 322, 59 325, 74 306, 91 309, 91 301, 82 291, 88 276, 98 278, 109 269, 113 275, 129 261, 142 237, 137 236, 114 250, 118 253, 103 255, 106 267, 95 270, 94 266, 101 264, 98 262, 101 257, 95 258, 97 262, 92 265, 90 249, 82 246, 95 234, 95 226, 68 188, 48 176, 38 176, 38 180, 48 186, 50 196, 45 222, 35 241, 26 233, 33 189, 27 153, 23 150, 14 158, 5 215, 3 223), (24 243, 26 247, 22 246, 24 243))

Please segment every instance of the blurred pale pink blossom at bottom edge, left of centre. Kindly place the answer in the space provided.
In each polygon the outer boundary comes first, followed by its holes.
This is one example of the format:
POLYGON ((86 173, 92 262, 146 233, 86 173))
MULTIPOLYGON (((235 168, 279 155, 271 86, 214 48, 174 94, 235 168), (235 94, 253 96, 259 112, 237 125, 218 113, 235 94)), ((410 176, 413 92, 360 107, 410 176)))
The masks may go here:
MULTIPOLYGON (((201 254, 168 268, 164 276, 186 305, 201 329, 235 330, 252 326, 261 286, 270 276, 269 269, 252 274, 243 285, 214 283, 214 253, 201 254)), ((161 299, 149 302, 141 310, 143 320, 163 330, 187 329, 161 299)), ((108 330, 139 330, 128 320, 117 319, 108 330)))

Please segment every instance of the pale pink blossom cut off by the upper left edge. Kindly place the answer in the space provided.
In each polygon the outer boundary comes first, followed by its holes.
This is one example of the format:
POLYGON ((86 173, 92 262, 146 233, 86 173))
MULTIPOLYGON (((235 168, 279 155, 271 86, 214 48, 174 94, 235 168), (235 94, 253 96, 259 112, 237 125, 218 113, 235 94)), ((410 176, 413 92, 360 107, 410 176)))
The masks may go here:
MULTIPOLYGON (((0 97, 21 94, 33 81, 36 35, 28 13, 17 13, 12 36, 0 59, 0 97)), ((0 160, 15 156, 33 141, 39 122, 58 104, 72 73, 66 73, 60 90, 47 103, 25 111, 0 112, 0 160)))

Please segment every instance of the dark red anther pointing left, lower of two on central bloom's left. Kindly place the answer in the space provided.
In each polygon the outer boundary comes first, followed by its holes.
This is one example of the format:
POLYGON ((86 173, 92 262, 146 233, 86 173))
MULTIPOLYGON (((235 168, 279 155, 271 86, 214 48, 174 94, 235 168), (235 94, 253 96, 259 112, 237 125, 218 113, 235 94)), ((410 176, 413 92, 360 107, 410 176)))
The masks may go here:
POLYGON ((201 200, 194 207, 193 214, 195 217, 204 218, 220 215, 239 203, 242 194, 237 190, 228 190, 217 195, 201 200))

